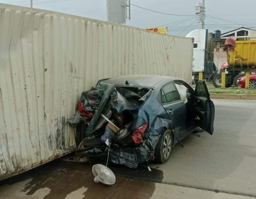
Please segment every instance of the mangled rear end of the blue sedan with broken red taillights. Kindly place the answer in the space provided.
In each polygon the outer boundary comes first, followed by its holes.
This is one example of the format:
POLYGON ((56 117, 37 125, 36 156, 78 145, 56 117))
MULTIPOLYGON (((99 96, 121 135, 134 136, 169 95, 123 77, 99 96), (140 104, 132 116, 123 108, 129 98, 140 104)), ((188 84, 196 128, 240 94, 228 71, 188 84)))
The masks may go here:
POLYGON ((76 126, 79 157, 103 158, 137 168, 154 159, 154 149, 171 120, 148 98, 153 88, 101 83, 81 94, 78 111, 68 122, 76 126), (143 106, 142 106, 143 105, 143 106), (154 106, 154 109, 149 106, 154 106))

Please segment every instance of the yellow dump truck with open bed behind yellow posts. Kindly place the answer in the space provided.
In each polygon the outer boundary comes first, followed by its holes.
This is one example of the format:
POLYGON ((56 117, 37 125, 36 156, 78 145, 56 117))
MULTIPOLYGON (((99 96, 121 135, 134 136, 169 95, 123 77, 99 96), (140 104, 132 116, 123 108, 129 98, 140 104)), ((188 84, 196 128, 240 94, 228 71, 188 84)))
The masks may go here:
MULTIPOLYGON (((245 74, 241 72, 256 72, 256 40, 235 41, 234 51, 228 49, 228 65, 220 72, 226 71, 226 87, 237 86, 237 79, 245 74)), ((221 86, 221 73, 212 79, 213 85, 221 86)))

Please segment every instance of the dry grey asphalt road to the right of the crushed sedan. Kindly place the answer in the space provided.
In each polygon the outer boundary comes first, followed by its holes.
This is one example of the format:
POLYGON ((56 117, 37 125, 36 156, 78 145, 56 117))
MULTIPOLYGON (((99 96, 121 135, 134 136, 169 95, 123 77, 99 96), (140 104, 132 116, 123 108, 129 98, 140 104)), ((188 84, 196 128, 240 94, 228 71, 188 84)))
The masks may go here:
POLYGON ((214 133, 188 136, 165 164, 162 183, 256 197, 256 101, 213 100, 214 133))

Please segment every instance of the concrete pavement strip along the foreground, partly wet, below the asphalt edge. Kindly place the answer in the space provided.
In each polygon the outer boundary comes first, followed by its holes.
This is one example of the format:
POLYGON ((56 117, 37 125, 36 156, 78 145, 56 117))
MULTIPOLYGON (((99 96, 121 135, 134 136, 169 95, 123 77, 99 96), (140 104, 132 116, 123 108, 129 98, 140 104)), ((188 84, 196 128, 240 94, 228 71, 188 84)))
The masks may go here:
MULTIPOLYGON (((139 169, 143 172, 143 169, 139 169)), ((144 171, 145 172, 145 171, 144 171)), ((154 174, 154 170, 152 171, 154 174)), ((136 175, 135 175, 136 177, 136 175)), ((90 165, 54 161, 0 184, 0 199, 252 199, 190 187, 122 177, 106 186, 94 183, 90 165)))

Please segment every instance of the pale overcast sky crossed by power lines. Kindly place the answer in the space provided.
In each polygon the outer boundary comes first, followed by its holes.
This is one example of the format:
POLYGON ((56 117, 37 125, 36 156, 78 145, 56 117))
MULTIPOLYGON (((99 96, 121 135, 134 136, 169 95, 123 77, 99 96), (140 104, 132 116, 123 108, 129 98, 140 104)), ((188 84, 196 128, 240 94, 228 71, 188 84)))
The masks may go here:
MULTIPOLYGON (((199 0, 130 0, 132 4, 154 11, 194 15, 199 0)), ((209 32, 220 29, 222 33, 245 26, 256 27, 256 0, 205 0, 205 24, 209 32), (213 18, 215 17, 215 18, 213 18), (220 18, 220 19, 216 19, 220 18), (231 22, 227 22, 232 21, 231 22)), ((24 5, 30 0, 0 0, 1 3, 24 5)), ((33 0, 34 8, 74 14, 88 18, 106 20, 106 0, 33 0), (52 3, 52 1, 59 1, 52 3), (43 3, 42 3, 43 2, 43 3)), ((131 5, 131 20, 127 25, 150 28, 169 24, 169 34, 186 36, 191 30, 201 27, 195 16, 170 16, 154 13, 131 5), (178 23, 179 20, 184 20, 178 23), (172 24, 170 24, 172 23, 172 24)))

